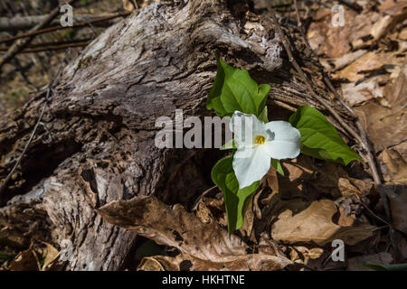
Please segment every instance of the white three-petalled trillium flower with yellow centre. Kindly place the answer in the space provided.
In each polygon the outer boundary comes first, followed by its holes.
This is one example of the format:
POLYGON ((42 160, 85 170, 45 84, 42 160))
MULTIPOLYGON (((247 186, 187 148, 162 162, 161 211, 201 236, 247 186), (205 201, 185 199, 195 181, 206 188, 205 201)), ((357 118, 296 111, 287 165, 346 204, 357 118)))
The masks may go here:
POLYGON ((271 158, 296 158, 300 152, 300 134, 286 121, 263 123, 254 115, 235 111, 231 120, 237 151, 233 156, 233 171, 239 189, 260 181, 270 170, 271 158))

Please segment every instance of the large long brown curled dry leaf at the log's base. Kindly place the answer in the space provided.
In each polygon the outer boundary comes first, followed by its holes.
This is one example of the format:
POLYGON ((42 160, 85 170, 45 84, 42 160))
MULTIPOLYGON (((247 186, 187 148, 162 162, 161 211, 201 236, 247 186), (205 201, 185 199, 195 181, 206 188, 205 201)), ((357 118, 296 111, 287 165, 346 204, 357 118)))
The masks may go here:
POLYGON ((248 246, 241 238, 229 238, 214 219, 204 223, 183 206, 168 206, 154 196, 113 201, 97 211, 112 224, 177 248, 194 270, 277 270, 291 263, 283 256, 246 254, 248 246))

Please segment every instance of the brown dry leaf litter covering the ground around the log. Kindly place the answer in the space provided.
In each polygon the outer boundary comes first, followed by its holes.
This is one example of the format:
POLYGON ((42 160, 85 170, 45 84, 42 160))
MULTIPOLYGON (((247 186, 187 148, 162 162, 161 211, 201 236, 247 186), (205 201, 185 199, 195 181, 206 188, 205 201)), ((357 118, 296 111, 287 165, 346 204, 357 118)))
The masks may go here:
MULTIPOLYGON (((217 189, 200 198, 194 210, 154 196, 113 201, 97 210, 104 219, 163 247, 162 254, 155 249, 152 256, 137 255, 138 264, 130 270, 366 270, 365 264, 407 261, 407 2, 385 0, 377 7, 370 1, 357 3, 363 11, 345 7, 346 22, 352 24, 344 27, 332 26, 330 9, 317 9, 307 36, 363 121, 383 186, 375 187, 362 165, 344 168, 301 155, 283 162, 285 176, 271 167, 243 227, 230 237, 217 189), (385 213, 379 190, 390 199, 398 252, 381 221, 385 213), (330 258, 334 239, 345 243, 345 262, 330 258)), ((15 244, 0 245, 0 257, 10 258, 0 270, 62 265, 52 244, 33 243, 18 254, 15 244)))

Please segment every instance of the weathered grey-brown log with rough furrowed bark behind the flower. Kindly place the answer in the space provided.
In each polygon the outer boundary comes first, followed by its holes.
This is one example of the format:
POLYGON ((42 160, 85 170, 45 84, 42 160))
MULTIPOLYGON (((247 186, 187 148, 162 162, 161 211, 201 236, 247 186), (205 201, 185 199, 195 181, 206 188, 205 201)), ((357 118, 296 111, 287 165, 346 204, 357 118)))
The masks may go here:
MULTIPOLYGON (((63 70, 43 126, 0 196, 0 238, 25 244, 35 238, 57 247, 71 239, 74 251, 65 269, 115 270, 136 234, 111 225, 99 208, 146 195, 191 206, 213 185, 209 172, 219 153, 158 149, 155 121, 174 119, 179 108, 185 117, 209 114, 205 102, 216 73, 214 51, 269 83, 271 106, 280 100, 318 107, 284 59, 270 20, 234 8, 217 0, 155 3, 90 43, 63 70)), ((317 83, 315 89, 328 97, 317 83)), ((39 95, 0 120, 2 178, 44 101, 39 95)), ((281 116, 277 109, 271 114, 281 116)))

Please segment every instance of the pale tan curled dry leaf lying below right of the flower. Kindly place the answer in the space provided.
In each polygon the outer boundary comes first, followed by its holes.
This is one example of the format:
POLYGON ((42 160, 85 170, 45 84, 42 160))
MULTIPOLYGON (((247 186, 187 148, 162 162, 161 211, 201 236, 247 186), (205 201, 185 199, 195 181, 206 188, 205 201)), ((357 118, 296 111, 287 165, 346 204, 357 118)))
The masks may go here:
POLYGON ((371 225, 336 225, 332 221, 336 211, 332 200, 313 201, 298 214, 293 214, 292 210, 284 210, 272 225, 271 237, 289 244, 314 241, 317 245, 324 246, 334 239, 342 239, 345 244, 355 245, 372 236, 375 227, 371 225))

